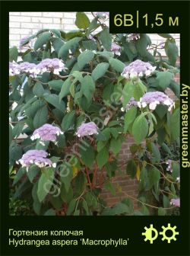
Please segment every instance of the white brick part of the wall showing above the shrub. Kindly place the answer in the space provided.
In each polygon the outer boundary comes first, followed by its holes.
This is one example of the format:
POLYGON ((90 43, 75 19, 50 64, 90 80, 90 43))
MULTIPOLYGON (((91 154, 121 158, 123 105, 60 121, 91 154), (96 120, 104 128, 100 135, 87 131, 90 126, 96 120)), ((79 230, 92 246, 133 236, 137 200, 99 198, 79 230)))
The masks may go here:
MULTIPOLYGON (((86 12, 90 20, 93 15, 86 12)), ((42 28, 57 28, 65 31, 77 29, 74 24, 76 12, 10 12, 9 13, 9 39, 10 46, 19 46, 22 37, 35 34, 42 28)), ((108 24, 108 23, 107 23, 108 24)), ((163 37, 149 34, 153 43, 160 43, 163 37)), ((179 34, 172 34, 179 45, 179 34)))

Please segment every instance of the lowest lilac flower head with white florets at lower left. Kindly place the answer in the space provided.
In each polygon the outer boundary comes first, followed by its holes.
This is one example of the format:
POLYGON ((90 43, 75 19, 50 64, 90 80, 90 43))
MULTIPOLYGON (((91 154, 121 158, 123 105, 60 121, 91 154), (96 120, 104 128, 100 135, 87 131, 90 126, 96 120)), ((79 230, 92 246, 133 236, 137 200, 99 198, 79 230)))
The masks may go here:
POLYGON ((38 167, 52 166, 56 167, 49 158, 46 158, 48 153, 44 150, 28 150, 17 163, 20 163, 22 167, 28 167, 30 165, 37 165, 38 167))

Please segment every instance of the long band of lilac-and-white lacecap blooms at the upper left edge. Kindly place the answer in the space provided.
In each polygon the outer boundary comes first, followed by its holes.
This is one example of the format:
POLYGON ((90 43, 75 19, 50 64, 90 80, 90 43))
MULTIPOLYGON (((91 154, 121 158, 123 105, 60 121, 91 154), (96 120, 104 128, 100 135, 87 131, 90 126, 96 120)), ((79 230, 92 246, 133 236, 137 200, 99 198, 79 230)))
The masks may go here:
POLYGON ((53 72, 55 75, 59 75, 62 70, 65 71, 65 64, 61 59, 43 59, 39 64, 30 62, 22 62, 17 64, 16 62, 9 62, 9 75, 19 75, 27 73, 29 76, 35 78, 37 75, 41 75, 44 72, 53 72))

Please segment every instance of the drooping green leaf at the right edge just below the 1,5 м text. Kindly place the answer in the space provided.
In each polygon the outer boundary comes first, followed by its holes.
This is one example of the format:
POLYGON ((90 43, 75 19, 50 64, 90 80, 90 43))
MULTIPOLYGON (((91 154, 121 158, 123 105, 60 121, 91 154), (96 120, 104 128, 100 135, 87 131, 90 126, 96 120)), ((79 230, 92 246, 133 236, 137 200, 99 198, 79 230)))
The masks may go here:
POLYGON ((165 52, 166 56, 168 56, 169 64, 172 66, 176 66, 176 60, 179 56, 179 50, 178 46, 176 46, 176 41, 174 39, 166 40, 165 52))

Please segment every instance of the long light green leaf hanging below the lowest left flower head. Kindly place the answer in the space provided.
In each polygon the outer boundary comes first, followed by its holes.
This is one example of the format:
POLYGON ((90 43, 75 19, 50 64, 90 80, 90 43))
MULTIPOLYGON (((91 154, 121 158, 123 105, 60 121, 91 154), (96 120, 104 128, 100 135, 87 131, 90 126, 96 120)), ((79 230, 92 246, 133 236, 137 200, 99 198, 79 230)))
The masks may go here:
POLYGON ((46 195, 49 193, 49 190, 52 187, 54 172, 55 172, 55 168, 52 168, 52 167, 43 168, 43 172, 38 181, 38 188, 37 188, 37 196, 40 202, 42 202, 45 199, 46 195))

